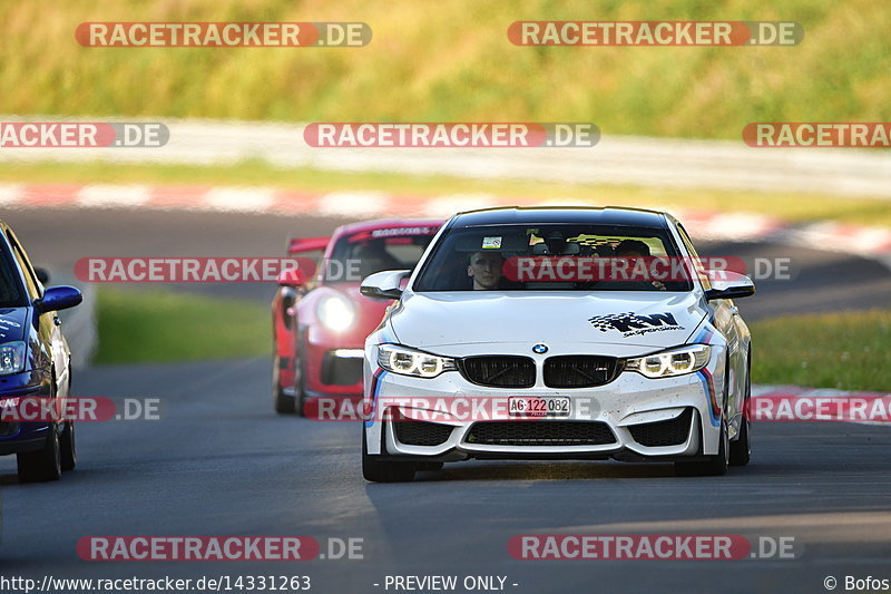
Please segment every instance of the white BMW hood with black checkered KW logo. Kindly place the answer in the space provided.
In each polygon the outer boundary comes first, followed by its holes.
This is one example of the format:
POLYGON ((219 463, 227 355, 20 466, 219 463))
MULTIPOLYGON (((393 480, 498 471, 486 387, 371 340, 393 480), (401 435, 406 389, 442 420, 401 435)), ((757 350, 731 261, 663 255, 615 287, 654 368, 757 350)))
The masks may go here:
POLYGON ((402 344, 683 344, 706 315, 692 292, 407 293, 390 323, 402 344))

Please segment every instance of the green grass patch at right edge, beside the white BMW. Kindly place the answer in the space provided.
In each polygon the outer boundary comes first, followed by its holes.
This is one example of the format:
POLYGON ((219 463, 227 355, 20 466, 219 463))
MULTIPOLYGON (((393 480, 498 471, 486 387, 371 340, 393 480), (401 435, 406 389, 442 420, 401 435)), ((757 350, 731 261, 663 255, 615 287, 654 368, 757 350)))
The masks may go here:
POLYGON ((751 324, 752 381, 891 392, 891 310, 751 324))

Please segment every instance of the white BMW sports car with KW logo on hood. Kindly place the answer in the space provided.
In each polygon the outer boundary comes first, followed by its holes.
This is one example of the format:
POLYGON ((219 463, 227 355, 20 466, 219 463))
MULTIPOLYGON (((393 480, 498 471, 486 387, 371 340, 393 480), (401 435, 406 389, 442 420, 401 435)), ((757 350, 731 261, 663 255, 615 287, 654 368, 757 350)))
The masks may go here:
POLYGON ((372 481, 477 459, 750 457, 750 332, 738 273, 706 271, 668 214, 493 208, 454 215, 365 341, 362 469, 372 481))

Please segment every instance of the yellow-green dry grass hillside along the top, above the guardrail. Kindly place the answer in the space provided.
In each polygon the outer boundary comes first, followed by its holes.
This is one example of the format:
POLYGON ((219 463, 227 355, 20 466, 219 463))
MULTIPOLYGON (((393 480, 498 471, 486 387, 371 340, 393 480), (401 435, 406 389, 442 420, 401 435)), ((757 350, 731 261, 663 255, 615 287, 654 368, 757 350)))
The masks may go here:
POLYGON ((753 120, 889 120, 891 4, 874 0, 4 2, 0 111, 275 120, 595 121, 738 138, 753 120), (795 20, 796 47, 515 47, 515 20, 795 20), (350 20, 344 48, 84 48, 85 21, 350 20))

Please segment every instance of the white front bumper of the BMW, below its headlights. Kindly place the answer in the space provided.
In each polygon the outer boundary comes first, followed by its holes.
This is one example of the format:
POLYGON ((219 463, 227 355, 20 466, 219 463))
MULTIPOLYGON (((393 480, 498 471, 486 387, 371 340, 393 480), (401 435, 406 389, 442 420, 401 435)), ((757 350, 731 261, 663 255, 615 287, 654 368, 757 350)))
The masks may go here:
MULTIPOLYGON (((584 389, 502 389, 467 382, 458 372, 420 379, 379 370, 366 396, 370 455, 396 458, 692 459, 718 451, 721 410, 707 369, 648 379, 623 372, 584 389), (458 415, 456 402, 505 402, 511 396, 569 397, 569 417, 519 420, 506 406, 458 415), (551 425, 548 425, 551 423, 551 425), (385 449, 384 449, 385 448, 385 449)), ((721 376, 718 376, 721 377, 721 376)), ((719 392, 718 392, 719 393, 719 392)))

